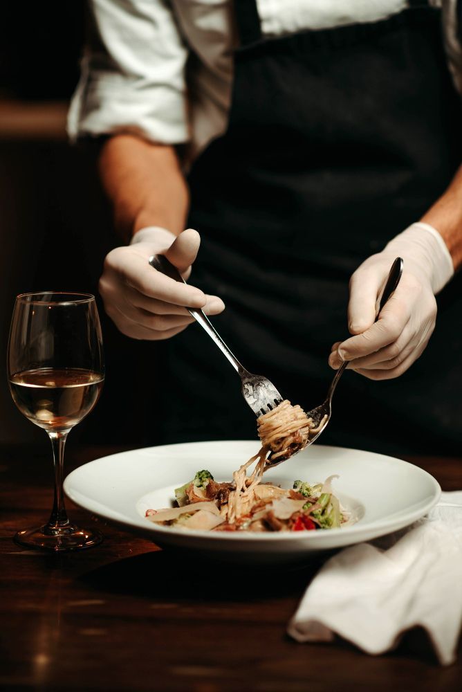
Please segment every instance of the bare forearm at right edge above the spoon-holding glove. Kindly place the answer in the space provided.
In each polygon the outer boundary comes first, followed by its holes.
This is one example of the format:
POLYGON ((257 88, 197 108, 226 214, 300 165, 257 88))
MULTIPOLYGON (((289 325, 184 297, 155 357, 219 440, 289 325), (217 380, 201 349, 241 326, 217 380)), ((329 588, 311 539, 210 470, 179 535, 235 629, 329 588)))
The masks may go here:
POLYGON ((438 230, 451 253, 454 271, 457 271, 462 264, 462 167, 421 221, 438 230))

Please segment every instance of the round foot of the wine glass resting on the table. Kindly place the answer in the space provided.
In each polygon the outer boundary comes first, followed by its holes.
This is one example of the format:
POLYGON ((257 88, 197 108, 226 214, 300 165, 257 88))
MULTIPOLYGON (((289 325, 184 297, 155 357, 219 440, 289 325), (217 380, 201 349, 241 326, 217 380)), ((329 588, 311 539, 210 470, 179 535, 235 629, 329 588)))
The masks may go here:
POLYGON ((15 543, 18 545, 49 550, 50 552, 83 550, 98 545, 101 541, 102 534, 100 531, 80 529, 73 524, 57 528, 51 528, 45 524, 39 529, 18 531, 15 536, 15 543))

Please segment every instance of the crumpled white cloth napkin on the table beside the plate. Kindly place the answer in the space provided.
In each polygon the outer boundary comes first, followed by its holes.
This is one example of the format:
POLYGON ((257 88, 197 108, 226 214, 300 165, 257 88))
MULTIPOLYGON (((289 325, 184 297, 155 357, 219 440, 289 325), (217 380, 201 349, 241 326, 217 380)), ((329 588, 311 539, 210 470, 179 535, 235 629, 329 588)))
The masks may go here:
POLYGON ((442 493, 412 527, 342 550, 308 586, 288 633, 297 641, 334 634, 367 653, 394 648, 423 627, 441 664, 454 662, 462 624, 462 491, 442 493))

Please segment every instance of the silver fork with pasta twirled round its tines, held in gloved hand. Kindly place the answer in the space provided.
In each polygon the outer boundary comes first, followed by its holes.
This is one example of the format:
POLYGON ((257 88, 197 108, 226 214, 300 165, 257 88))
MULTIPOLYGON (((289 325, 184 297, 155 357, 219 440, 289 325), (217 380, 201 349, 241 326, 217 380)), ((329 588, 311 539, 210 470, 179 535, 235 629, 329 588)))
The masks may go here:
MULTIPOLYGON (((154 269, 157 269, 157 271, 169 276, 171 279, 186 283, 176 266, 174 266, 172 262, 169 262, 165 255, 152 255, 152 257, 149 257, 149 264, 153 266, 154 269)), ((254 375, 252 372, 248 372, 248 370, 239 363, 236 356, 234 356, 219 335, 218 331, 213 327, 212 322, 205 316, 203 310, 196 308, 187 308, 187 310, 199 325, 205 329, 223 355, 228 358, 234 370, 237 371, 237 374, 241 378, 243 397, 257 417, 264 415, 264 413, 268 413, 281 403, 283 397, 281 397, 275 385, 263 375, 254 375)))

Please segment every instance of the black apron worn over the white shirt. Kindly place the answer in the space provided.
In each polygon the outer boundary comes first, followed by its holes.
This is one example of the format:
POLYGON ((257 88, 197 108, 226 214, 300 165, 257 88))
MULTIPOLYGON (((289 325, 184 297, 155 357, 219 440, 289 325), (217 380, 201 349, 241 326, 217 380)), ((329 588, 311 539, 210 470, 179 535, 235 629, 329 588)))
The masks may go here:
MULTIPOLYGON (((225 301, 216 329, 251 372, 306 409, 324 400, 348 282, 443 193, 461 162, 461 108, 439 10, 276 38, 235 1, 228 129, 190 173, 192 282, 225 301)), ((424 6, 423 6, 424 5, 424 6)), ((461 290, 399 379, 346 372, 324 444, 390 453, 462 448, 461 290)), ((201 327, 168 345, 160 441, 256 436, 239 377, 201 327)))

